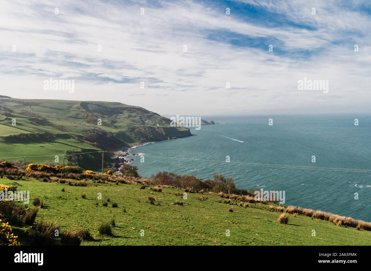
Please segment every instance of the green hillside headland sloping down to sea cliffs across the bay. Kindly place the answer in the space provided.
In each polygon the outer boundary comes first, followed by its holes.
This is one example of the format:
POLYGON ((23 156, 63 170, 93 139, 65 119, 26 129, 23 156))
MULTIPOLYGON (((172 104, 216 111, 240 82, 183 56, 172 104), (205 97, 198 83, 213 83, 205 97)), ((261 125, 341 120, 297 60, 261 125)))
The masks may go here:
MULTIPOLYGON (((53 162, 55 155, 69 150, 116 151, 138 143, 191 135, 187 128, 170 127, 170 122, 144 108, 119 102, 0 97, 0 160, 28 156, 28 162, 53 162), (16 125, 12 125, 13 119, 16 125)), ((90 154, 81 159, 84 161, 80 166, 99 169, 100 156, 90 154)))

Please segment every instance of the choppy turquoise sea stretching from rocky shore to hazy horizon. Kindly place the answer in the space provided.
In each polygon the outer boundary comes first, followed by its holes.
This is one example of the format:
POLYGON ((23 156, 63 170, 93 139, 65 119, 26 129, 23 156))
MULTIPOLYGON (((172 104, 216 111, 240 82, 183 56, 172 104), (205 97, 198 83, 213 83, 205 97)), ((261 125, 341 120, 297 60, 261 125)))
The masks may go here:
POLYGON ((203 125, 198 131, 191 127, 194 136, 187 138, 132 148, 133 153, 144 153, 145 159, 141 163, 139 156, 131 156, 132 165, 138 166, 143 177, 168 171, 211 179, 221 173, 233 177, 242 189, 285 191, 285 205, 371 221, 371 115, 203 119, 219 124, 203 125))

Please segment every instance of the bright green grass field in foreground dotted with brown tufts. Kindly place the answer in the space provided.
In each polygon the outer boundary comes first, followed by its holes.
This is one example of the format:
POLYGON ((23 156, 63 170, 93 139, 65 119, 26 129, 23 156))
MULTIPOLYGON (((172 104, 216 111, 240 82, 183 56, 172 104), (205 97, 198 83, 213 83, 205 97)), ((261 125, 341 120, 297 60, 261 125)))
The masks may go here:
MULTIPOLYGON (((100 240, 83 241, 81 245, 370 245, 371 232, 351 227, 339 227, 329 221, 294 217, 288 214, 288 224, 279 224, 280 212, 269 211, 268 204, 250 203, 249 207, 231 207, 216 194, 188 193, 187 199, 174 193, 184 192, 176 188, 163 188, 153 192, 148 187, 115 183, 97 184, 91 180, 87 187, 69 186, 68 183, 40 182, 33 178, 9 180, 4 176, 1 184, 18 186, 18 190, 30 191, 30 206, 36 197, 44 201, 36 220, 53 220, 63 230, 89 228, 93 237, 100 240), (62 192, 62 187, 65 192, 62 192), (86 198, 81 195, 86 193, 86 198), (98 200, 109 197, 108 207, 98 200), (148 197, 154 196, 155 204, 148 197), (199 197, 207 197, 200 201, 199 197), (174 205, 179 199, 183 206, 174 205), (96 203, 98 202, 98 206, 96 203), (118 207, 112 207, 117 202, 118 207), (126 209, 126 212, 124 211, 126 209), (113 236, 101 236, 98 225, 115 219, 113 236), (144 236, 141 237, 141 230, 144 236), (230 236, 226 236, 230 230, 230 236), (316 236, 312 236, 312 230, 316 236)), ((23 203, 21 203, 23 204, 23 203)), ((33 207, 33 206, 32 206, 33 207)), ((303 206, 305 207, 305 206, 303 206)), ((27 227, 13 227, 19 241, 27 244, 27 227)))

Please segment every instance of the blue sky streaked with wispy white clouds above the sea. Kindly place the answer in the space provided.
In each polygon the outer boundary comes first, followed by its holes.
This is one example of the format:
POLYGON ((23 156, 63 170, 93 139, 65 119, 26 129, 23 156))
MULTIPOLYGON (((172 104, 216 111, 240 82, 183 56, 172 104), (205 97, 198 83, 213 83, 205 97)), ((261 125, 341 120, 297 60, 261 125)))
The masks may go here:
POLYGON ((0 0, 0 95, 161 115, 370 113, 370 30, 367 0, 0 0), (304 78, 328 91, 298 89, 304 78))

